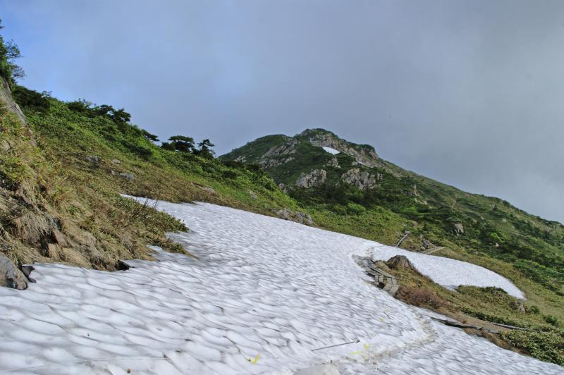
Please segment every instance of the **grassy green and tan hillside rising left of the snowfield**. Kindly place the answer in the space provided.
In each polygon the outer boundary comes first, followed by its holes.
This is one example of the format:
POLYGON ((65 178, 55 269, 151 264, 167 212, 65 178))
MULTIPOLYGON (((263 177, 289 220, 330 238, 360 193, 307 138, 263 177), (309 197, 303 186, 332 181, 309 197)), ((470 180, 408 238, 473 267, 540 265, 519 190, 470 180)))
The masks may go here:
POLYGON ((115 269, 118 259, 150 257, 147 244, 182 251, 164 234, 188 230, 183 223, 121 194, 262 214, 296 207, 261 171, 166 150, 135 125, 13 89, 29 127, 1 111, 0 220, 3 251, 18 263, 115 269))

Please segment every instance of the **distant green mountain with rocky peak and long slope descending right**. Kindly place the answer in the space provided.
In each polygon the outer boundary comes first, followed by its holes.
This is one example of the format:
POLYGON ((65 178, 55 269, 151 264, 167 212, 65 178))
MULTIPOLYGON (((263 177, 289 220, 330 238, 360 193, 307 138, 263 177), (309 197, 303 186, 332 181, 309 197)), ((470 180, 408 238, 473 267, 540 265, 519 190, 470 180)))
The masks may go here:
MULTIPOLYGON (((342 222, 355 227, 354 233, 393 244, 409 232, 401 244, 409 250, 437 247, 446 248, 443 253, 487 254, 564 293, 562 224, 529 215, 502 199, 405 171, 381 159, 373 147, 308 129, 295 137, 259 138, 221 159, 258 164, 304 207, 340 214, 342 222), (388 220, 365 220, 373 215, 387 215, 388 220), (380 227, 375 233, 374 226, 380 227)), ((333 228, 324 214, 314 219, 333 228)))

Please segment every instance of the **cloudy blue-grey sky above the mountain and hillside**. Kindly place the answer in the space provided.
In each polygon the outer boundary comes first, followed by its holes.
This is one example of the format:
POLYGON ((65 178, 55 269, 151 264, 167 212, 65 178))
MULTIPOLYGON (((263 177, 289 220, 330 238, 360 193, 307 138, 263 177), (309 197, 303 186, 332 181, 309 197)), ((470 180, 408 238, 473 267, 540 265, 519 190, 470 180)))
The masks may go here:
POLYGON ((325 128, 564 223, 560 0, 0 0, 23 85, 161 140, 325 128))

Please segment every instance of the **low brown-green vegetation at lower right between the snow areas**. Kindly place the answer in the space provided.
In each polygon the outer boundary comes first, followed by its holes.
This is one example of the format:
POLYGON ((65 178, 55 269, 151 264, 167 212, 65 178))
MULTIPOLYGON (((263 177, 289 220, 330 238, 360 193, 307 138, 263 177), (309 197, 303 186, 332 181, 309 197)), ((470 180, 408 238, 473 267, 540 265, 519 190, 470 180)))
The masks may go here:
POLYGON ((462 323, 493 328, 499 333, 482 336, 502 348, 512 348, 543 361, 564 365, 564 329, 560 319, 551 315, 554 309, 558 309, 558 297, 553 301, 548 300, 549 295, 541 299, 537 297, 536 303, 540 302, 541 307, 532 305, 532 301, 522 305, 520 300, 500 288, 460 285, 456 290, 448 290, 417 272, 407 269, 389 271, 398 277, 401 285, 396 294, 398 299, 462 323), (490 323, 526 330, 505 329, 490 323))

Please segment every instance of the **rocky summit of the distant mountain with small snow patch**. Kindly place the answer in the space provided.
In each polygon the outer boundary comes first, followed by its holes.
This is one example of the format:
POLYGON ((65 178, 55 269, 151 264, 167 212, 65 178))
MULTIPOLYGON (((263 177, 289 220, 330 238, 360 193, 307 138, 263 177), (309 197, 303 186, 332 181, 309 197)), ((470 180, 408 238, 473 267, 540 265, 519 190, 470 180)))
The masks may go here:
POLYGON ((341 182, 364 190, 378 184, 382 171, 397 169, 380 159, 374 147, 348 142, 324 129, 307 129, 294 137, 262 137, 221 159, 258 164, 284 190, 341 182))

